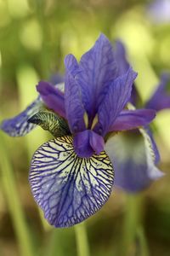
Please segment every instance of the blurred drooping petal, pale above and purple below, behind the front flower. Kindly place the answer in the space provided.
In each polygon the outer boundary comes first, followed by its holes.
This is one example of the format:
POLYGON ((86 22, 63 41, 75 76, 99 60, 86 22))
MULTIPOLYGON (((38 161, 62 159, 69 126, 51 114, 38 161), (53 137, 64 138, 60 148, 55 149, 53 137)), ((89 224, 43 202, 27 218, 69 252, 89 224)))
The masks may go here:
POLYGON ((163 176, 155 166, 155 151, 146 133, 138 130, 119 133, 106 143, 105 150, 114 163, 115 185, 129 193, 146 189, 163 176))

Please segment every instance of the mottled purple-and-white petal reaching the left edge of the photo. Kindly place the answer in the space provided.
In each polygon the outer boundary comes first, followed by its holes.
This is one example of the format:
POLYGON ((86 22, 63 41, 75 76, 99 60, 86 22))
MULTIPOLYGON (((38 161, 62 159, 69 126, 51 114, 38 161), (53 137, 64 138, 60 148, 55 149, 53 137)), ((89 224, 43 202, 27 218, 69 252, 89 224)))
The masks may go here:
POLYGON ((40 96, 31 103, 23 112, 18 114, 12 119, 5 119, 0 125, 0 129, 8 133, 11 137, 25 136, 30 132, 36 125, 28 122, 28 119, 35 113, 37 113, 43 107, 40 96))

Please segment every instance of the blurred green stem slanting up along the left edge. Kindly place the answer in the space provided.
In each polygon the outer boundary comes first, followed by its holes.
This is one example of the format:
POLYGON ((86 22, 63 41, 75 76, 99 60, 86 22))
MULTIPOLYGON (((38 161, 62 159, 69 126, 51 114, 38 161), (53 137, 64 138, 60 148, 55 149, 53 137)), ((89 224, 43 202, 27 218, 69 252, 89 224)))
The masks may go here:
POLYGON ((0 141, 1 181, 8 209, 14 224, 14 231, 18 239, 20 255, 33 256, 34 253, 31 244, 31 236, 20 204, 20 196, 18 194, 17 184, 15 183, 14 170, 9 160, 8 149, 2 135, 0 137, 0 141))

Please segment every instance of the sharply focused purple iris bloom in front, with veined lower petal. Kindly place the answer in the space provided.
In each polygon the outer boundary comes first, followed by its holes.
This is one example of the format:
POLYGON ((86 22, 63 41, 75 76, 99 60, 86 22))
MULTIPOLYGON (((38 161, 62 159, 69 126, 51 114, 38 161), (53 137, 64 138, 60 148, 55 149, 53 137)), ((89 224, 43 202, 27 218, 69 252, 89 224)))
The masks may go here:
POLYGON ((105 204, 115 161, 105 152, 105 141, 155 118, 154 110, 126 108, 137 73, 128 67, 120 74, 118 65, 101 34, 79 63, 74 55, 65 57, 65 91, 39 82, 37 100, 1 125, 11 136, 25 135, 34 125, 54 136, 33 155, 29 180, 35 201, 55 227, 80 223, 105 204))

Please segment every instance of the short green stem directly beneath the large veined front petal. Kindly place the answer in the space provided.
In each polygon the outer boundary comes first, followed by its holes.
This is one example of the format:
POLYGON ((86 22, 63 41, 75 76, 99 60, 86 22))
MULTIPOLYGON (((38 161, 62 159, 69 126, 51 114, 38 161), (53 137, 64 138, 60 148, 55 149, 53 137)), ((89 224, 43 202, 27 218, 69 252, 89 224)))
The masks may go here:
POLYGON ((77 241, 77 255, 78 256, 90 256, 88 247, 88 236, 84 223, 74 226, 76 241, 77 241))

